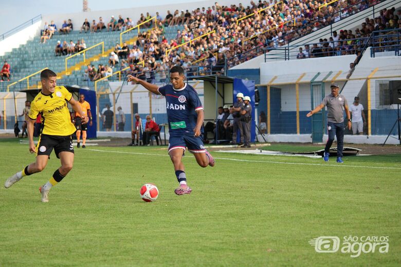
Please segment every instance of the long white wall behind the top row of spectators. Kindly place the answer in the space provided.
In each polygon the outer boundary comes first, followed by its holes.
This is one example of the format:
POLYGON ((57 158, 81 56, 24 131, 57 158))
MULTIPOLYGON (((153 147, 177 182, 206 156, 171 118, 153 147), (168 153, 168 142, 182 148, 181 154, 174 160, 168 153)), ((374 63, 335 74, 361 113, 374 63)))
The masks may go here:
MULTIPOLYGON (((162 1, 160 1, 162 3, 162 1)), ((118 19, 118 15, 122 15, 122 17, 125 19, 126 17, 131 17, 132 21, 136 23, 139 18, 140 14, 143 13, 146 15, 146 12, 149 12, 151 16, 156 15, 156 12, 159 12, 161 17, 163 19, 167 15, 167 10, 170 10, 172 14, 174 14, 174 11, 178 9, 178 11, 181 10, 193 10, 196 8, 201 8, 205 7, 206 9, 208 7, 211 7, 214 5, 216 1, 215 0, 207 0, 207 1, 199 1, 199 2, 192 2, 192 3, 186 3, 186 4, 169 4, 169 5, 159 5, 159 6, 143 6, 143 7, 136 7, 136 8, 124 8, 124 9, 110 9, 110 10, 102 10, 102 11, 91 11, 91 12, 80 12, 80 13, 60 13, 60 14, 45 14, 42 15, 42 26, 45 22, 50 24, 50 21, 54 21, 56 23, 57 28, 60 28, 61 25, 63 24, 64 20, 71 19, 72 24, 74 25, 75 30, 79 30, 80 27, 82 26, 82 23, 84 22, 85 19, 88 19, 89 23, 92 24, 92 20, 96 20, 96 22, 99 21, 99 17, 103 17, 104 22, 109 22, 111 19, 111 16, 114 15, 116 19, 118 19)), ((243 3, 244 6, 249 5, 248 1, 239 1, 239 0, 221 0, 218 1, 218 4, 221 6, 227 6, 227 5, 238 5, 239 3, 243 3), (246 4, 245 4, 246 3, 246 4)), ((145 5, 146 2, 143 2, 145 5)), ((96 5, 96 1, 93 1, 93 3, 90 4, 90 6, 96 5)), ((127 5, 129 5, 129 2, 127 2, 127 5)), ((112 6, 112 5, 111 5, 112 6)))

